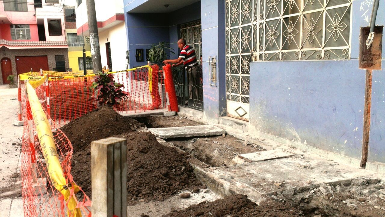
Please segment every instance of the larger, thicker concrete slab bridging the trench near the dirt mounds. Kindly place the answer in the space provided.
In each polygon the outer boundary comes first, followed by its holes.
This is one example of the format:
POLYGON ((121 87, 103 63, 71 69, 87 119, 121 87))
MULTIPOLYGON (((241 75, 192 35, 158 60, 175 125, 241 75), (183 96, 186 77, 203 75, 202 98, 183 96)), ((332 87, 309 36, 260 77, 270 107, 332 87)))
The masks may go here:
POLYGON ((149 131, 162 139, 192 136, 216 136, 226 133, 226 131, 213 125, 151 128, 149 131))

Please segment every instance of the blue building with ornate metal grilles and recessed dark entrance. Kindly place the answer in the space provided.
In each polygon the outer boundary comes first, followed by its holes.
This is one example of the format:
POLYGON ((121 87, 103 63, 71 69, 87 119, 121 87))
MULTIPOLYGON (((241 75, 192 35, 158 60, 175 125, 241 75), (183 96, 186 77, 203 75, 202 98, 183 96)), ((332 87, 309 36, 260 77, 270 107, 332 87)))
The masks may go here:
POLYGON ((130 66, 144 64, 136 49, 158 42, 176 58, 183 37, 203 55, 206 119, 357 167, 368 143, 366 168, 385 172, 383 2, 376 70, 360 69, 372 58, 362 44, 372 7, 372 0, 124 0, 130 66))

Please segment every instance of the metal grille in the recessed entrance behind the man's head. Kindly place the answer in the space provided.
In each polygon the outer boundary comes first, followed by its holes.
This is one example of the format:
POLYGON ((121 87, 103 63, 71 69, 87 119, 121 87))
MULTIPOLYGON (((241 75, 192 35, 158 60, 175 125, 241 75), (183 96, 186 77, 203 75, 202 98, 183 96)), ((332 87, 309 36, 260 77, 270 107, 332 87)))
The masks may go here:
POLYGON ((195 49, 196 60, 200 62, 202 54, 202 24, 201 20, 181 24, 181 37, 195 49))

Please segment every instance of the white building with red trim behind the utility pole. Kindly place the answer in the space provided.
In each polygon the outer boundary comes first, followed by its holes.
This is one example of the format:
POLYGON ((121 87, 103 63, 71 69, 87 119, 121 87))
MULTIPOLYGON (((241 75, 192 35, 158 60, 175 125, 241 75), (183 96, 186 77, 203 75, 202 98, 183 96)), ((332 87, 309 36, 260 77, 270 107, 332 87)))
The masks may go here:
MULTIPOLYGON (((127 40, 124 25, 123 2, 95 1, 102 67, 114 71, 127 68, 127 40)), ((89 37, 87 5, 78 0, 76 7, 76 28, 78 35, 89 37)))

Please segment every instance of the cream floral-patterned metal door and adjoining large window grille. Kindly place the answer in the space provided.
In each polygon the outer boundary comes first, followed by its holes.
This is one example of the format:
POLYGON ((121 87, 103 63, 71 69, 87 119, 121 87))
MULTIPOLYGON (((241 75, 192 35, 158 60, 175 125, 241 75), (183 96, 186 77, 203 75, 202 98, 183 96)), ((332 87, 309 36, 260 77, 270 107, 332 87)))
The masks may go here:
POLYGON ((228 116, 249 119, 250 61, 349 59, 352 0, 226 0, 228 116))

